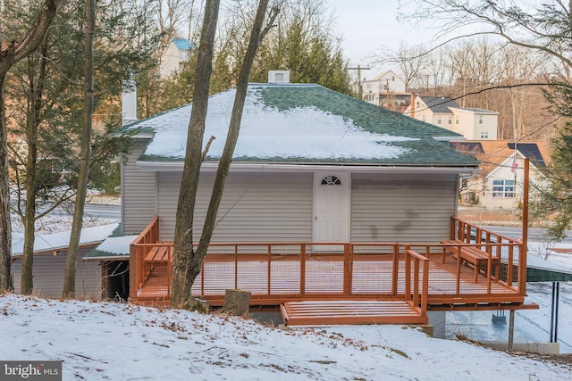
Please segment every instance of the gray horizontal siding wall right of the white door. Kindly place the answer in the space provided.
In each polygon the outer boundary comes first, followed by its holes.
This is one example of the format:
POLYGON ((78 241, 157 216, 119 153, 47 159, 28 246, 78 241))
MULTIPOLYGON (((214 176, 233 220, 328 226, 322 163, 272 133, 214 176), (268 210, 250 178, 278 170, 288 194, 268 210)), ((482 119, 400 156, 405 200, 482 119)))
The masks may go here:
POLYGON ((353 174, 352 242, 439 242, 457 208, 455 175, 353 174))

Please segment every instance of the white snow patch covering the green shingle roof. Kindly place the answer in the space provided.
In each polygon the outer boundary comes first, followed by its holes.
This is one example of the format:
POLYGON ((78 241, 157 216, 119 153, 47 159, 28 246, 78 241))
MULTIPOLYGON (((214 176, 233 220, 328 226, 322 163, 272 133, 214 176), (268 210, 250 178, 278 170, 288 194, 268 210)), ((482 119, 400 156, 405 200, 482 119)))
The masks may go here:
MULTIPOLYGON (((234 95, 235 90, 231 89, 211 98, 203 141, 203 145, 206 145, 211 136, 216 137, 208 151, 209 157, 220 158, 223 153, 234 95)), ((257 106, 263 102, 260 94, 251 89, 248 98, 240 127, 240 143, 236 146, 234 157, 304 157, 316 160, 389 158, 407 152, 405 148, 391 146, 392 142, 413 140, 366 132, 352 120, 345 120, 340 115, 332 115, 316 107, 280 111, 277 107, 265 106, 264 112, 261 112, 257 106), (306 120, 307 124, 298 123, 300 119, 306 120), (380 150, 380 145, 385 149, 380 150)), ((174 114, 169 113, 170 125, 156 128, 156 135, 147 146, 146 155, 176 159, 184 157, 190 107, 187 105, 174 114)))

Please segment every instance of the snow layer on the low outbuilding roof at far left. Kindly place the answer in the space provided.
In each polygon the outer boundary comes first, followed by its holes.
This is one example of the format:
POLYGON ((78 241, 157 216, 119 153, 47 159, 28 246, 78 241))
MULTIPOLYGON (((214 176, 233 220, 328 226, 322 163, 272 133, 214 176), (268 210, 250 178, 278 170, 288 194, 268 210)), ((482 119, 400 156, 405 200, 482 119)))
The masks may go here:
MULTIPOLYGON (((93 228, 82 228, 80 244, 91 244, 105 240, 110 236, 118 224, 102 225, 93 228)), ((34 252, 46 252, 68 247, 70 244, 71 231, 62 231, 53 234, 37 234, 34 240, 34 252)), ((24 253, 24 239, 14 241, 12 244, 12 254, 21 255, 24 253)))

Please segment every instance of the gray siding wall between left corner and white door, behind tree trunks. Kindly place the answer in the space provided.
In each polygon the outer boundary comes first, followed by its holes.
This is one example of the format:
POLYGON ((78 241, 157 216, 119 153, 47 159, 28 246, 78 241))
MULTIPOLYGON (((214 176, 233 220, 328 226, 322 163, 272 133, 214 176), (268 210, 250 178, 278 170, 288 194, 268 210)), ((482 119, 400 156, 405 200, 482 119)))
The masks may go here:
MULTIPOLYGON (((172 240, 180 172, 159 173, 161 239, 172 240)), ((195 239, 205 219, 214 173, 201 174, 195 239)), ((214 228, 214 242, 296 242, 312 238, 312 174, 231 172, 214 228)))

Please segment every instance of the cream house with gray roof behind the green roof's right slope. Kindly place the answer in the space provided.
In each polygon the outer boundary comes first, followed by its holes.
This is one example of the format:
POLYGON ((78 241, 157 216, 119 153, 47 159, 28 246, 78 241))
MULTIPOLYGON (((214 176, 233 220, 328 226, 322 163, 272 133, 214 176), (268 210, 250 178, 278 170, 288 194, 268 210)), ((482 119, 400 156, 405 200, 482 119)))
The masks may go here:
POLYGON ((496 140, 499 112, 460 107, 445 96, 416 95, 403 112, 416 120, 447 128, 468 140, 496 140))

